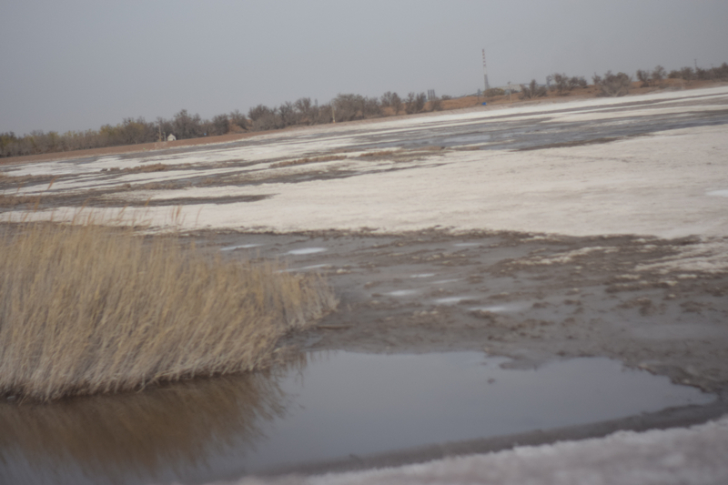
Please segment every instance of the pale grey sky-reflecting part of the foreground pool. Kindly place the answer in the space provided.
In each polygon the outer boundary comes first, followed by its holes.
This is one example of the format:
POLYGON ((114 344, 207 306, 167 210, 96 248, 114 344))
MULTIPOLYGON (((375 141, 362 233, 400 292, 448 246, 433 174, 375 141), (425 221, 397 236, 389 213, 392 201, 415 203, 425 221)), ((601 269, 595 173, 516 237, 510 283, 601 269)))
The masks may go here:
POLYGON ((501 369, 478 352, 311 359, 281 388, 293 398, 248 471, 332 460, 532 429, 617 419, 714 397, 610 359, 572 359, 539 369, 501 369))

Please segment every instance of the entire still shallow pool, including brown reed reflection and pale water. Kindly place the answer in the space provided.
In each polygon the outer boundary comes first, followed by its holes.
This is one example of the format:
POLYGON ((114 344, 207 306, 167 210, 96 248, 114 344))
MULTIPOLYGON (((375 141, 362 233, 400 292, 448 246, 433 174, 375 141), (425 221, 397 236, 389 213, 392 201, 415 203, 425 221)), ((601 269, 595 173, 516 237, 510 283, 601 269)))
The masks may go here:
POLYGON ((587 424, 713 395, 609 359, 502 369, 479 352, 309 355, 274 375, 0 405, 0 481, 196 483, 587 424))

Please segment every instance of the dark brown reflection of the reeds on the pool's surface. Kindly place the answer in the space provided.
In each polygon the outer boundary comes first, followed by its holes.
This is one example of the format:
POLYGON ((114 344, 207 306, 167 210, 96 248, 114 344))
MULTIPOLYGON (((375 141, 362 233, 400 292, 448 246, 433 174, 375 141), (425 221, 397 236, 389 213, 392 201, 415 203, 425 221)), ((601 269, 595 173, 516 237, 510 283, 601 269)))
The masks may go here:
POLYGON ((197 379, 138 393, 0 404, 0 483, 147 483, 209 480, 213 462, 244 456, 282 418, 284 374, 197 379), (204 476, 203 476, 204 475, 204 476))

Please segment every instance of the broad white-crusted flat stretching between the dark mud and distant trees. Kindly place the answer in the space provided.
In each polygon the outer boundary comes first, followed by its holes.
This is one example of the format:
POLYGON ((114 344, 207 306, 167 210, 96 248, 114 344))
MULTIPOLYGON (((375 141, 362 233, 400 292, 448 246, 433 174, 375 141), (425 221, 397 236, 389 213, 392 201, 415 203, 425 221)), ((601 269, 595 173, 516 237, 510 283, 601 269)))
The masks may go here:
MULTIPOLYGON (((478 150, 410 149, 415 152, 412 157, 403 157, 408 149, 395 148, 389 150, 389 157, 359 157, 381 151, 359 147, 373 136, 407 139, 453 126, 468 132, 527 119, 544 129, 595 121, 603 129, 605 123, 639 127, 642 119, 661 116, 710 116, 726 111, 728 88, 635 96, 629 98, 631 106, 615 107, 624 99, 313 127, 262 136, 239 147, 9 167, 6 174, 10 176, 58 179, 49 189, 47 183, 27 184, 19 191, 7 187, 3 193, 83 197, 85 191, 107 191, 103 197, 119 207, 106 209, 109 215, 116 216, 126 204, 154 203, 154 207, 127 207, 122 216, 154 227, 172 224, 172 209, 181 205, 176 222, 181 220, 179 228, 186 230, 368 227, 398 232, 449 227, 574 236, 728 235, 728 129, 723 124, 705 123, 574 147, 516 151, 487 149, 486 141, 474 144, 483 148, 478 150), (332 154, 341 159, 285 165, 301 157, 332 154), (167 169, 107 171, 149 164, 164 164, 167 169), (344 172, 345 177, 337 177, 344 172), (190 177, 217 182, 182 183, 190 177), (151 184, 166 186, 145 187, 151 184), (129 186, 131 190, 119 191, 129 186), (226 203, 216 203, 220 197, 226 197, 226 203), (246 197, 261 199, 236 202, 246 197)), ((76 207, 61 205, 33 217, 54 214, 57 219, 75 212, 76 207)))

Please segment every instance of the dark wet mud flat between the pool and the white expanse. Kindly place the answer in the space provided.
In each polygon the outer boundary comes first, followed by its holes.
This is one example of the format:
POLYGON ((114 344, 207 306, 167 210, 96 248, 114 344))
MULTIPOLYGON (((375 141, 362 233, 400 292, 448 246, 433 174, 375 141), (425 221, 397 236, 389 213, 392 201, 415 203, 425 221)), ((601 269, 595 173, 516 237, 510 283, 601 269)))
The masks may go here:
POLYGON ((390 236, 200 233, 232 258, 319 271, 339 311, 301 350, 482 350, 530 368, 608 357, 708 391, 728 384, 728 274, 686 268, 695 237, 422 231, 390 236))

